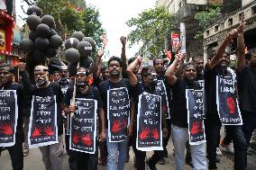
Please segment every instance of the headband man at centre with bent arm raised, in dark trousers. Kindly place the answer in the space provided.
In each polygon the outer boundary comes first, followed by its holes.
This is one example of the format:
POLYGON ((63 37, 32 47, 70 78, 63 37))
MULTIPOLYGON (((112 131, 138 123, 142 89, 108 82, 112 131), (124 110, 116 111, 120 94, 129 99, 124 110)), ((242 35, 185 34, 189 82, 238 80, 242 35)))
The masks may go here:
MULTIPOLYGON (((157 85, 157 74, 155 73, 155 70, 153 67, 142 67, 142 81, 138 81, 138 77, 133 73, 134 68, 140 65, 142 61, 141 57, 135 58, 133 62, 129 65, 127 68, 127 76, 130 79, 131 84, 137 85, 136 88, 133 90, 133 98, 135 103, 139 103, 139 96, 143 92, 147 92, 149 94, 155 94, 155 86, 157 85)), ((138 104, 135 105, 135 112, 138 113, 138 104)), ((167 130, 167 124, 165 115, 163 114, 161 116, 162 118, 162 131, 163 131, 163 137, 166 139, 168 136, 168 130, 167 130)), ((137 130, 137 119, 134 119, 134 126, 133 130, 137 130)), ((136 158, 136 168, 140 170, 145 169, 145 157, 146 152, 138 150, 136 148, 136 132, 133 135, 133 150, 135 153, 136 158)), ((154 151, 153 156, 147 160, 147 165, 150 167, 151 170, 156 170, 156 164, 160 161, 160 158, 163 156, 162 150, 156 150, 154 151)))

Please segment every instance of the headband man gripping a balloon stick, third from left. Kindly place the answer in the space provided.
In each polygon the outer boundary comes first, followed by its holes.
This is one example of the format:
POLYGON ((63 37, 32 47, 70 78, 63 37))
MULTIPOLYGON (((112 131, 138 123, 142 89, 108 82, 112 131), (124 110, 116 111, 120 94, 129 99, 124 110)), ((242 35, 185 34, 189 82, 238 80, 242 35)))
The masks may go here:
MULTIPOLYGON (((76 75, 77 81, 77 90, 76 90, 76 98, 83 98, 83 99, 93 99, 97 101, 97 108, 99 109, 99 118, 101 124, 105 123, 105 115, 103 112, 103 108, 101 107, 101 101, 99 97, 98 90, 96 87, 88 85, 88 70, 85 67, 78 67, 78 72, 76 75)), ((70 103, 73 97, 74 87, 69 87, 67 94, 65 95, 64 99, 64 111, 69 114, 70 112, 76 111, 76 106, 70 103)), ((102 132, 104 130, 101 130, 102 132)), ((103 141, 105 140, 105 133, 101 133, 100 139, 103 141)), ((94 170, 95 169, 95 161, 96 161, 96 154, 87 154, 83 152, 78 152, 75 150, 69 151, 69 168, 70 170, 94 170), (86 167, 86 168, 85 168, 86 167)))

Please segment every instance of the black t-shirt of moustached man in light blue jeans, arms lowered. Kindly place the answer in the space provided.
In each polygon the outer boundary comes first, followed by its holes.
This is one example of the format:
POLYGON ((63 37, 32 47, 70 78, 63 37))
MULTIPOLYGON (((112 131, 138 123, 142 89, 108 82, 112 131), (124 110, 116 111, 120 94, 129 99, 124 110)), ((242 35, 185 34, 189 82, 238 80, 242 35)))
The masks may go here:
POLYGON ((130 85, 130 81, 127 78, 122 78, 118 83, 113 83, 109 80, 105 80, 104 82, 100 83, 98 85, 98 91, 103 101, 103 109, 105 112, 105 128, 107 129, 108 123, 107 123, 107 90, 113 89, 113 88, 121 88, 126 87, 128 90, 129 98, 132 98, 132 88, 133 86, 130 85))

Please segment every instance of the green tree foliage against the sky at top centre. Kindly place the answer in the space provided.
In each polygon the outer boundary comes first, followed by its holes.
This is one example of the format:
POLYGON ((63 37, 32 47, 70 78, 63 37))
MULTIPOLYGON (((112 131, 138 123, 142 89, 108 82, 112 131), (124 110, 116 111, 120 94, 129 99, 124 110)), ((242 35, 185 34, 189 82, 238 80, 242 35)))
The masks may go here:
POLYGON ((142 41, 142 54, 149 53, 151 57, 159 57, 160 52, 165 49, 165 40, 175 25, 175 19, 168 9, 160 6, 144 10, 126 24, 134 28, 128 35, 130 47, 142 41))

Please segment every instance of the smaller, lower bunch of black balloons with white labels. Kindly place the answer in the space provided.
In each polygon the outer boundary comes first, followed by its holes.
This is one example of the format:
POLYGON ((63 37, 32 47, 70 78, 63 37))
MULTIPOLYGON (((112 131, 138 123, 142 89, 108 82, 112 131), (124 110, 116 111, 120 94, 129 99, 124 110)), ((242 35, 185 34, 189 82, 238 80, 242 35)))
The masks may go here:
POLYGON ((93 65, 92 51, 96 48, 96 41, 91 37, 85 37, 81 31, 75 31, 71 38, 65 41, 65 58, 69 61, 69 73, 76 67, 91 67, 93 65))

